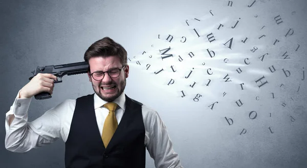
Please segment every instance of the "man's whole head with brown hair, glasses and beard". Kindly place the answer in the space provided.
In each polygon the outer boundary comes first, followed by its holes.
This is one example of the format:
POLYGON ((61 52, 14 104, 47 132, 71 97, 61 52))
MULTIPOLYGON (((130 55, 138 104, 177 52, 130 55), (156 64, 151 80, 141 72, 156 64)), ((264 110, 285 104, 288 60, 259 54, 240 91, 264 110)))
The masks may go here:
POLYGON ((85 51, 84 61, 89 62, 87 75, 101 99, 113 101, 123 93, 129 66, 127 51, 120 44, 108 37, 98 40, 85 51))

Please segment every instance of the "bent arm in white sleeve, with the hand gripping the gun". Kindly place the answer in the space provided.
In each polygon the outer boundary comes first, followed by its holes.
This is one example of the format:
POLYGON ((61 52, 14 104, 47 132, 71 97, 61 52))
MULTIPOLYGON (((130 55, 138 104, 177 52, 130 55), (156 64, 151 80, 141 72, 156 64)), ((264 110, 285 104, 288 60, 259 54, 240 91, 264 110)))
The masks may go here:
POLYGON ((28 122, 28 109, 32 96, 42 91, 52 94, 53 79, 56 80, 56 76, 52 74, 36 75, 18 92, 6 114, 6 149, 13 152, 27 152, 43 144, 52 143, 59 137, 57 130, 60 130, 60 126, 54 123, 60 123, 60 121, 53 115, 52 110, 47 111, 34 122, 28 122), (53 127, 51 123, 54 124, 53 127))

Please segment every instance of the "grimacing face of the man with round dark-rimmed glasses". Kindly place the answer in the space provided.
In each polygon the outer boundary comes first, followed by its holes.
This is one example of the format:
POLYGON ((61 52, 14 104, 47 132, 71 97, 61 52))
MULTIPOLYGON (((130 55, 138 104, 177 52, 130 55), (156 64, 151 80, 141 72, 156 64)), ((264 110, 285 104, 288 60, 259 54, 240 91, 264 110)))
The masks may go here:
MULTIPOLYGON (((120 63, 120 58, 117 56, 109 57, 94 57, 89 60, 89 65, 91 68, 91 73, 95 71, 106 72, 113 68, 122 68, 123 65, 120 63)), ((128 77, 129 66, 126 65, 121 71, 120 75, 116 78, 110 77, 107 72, 104 73, 102 80, 95 80, 90 73, 90 82, 92 82, 93 89, 95 93, 105 101, 113 101, 118 98, 124 91, 126 86, 126 78, 128 77), (112 89, 109 89, 112 88, 112 89)))

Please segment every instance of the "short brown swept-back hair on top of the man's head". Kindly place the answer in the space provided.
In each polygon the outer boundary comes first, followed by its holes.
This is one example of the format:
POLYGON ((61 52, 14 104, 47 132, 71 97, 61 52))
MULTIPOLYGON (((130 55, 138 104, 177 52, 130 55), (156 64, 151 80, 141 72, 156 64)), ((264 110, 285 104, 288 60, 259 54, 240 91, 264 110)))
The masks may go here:
POLYGON ((108 57, 112 55, 119 57, 123 66, 127 65, 127 51, 125 48, 111 38, 105 37, 93 43, 85 51, 84 61, 89 62, 92 57, 108 57))

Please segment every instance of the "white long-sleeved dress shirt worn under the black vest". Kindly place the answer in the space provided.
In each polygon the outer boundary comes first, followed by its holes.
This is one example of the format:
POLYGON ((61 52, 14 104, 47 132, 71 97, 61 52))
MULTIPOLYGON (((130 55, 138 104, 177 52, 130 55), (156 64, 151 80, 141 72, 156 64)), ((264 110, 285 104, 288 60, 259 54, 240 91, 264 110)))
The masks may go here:
MULTIPOLYGON (((20 91, 19 91, 20 92, 20 91)), ((6 136, 5 147, 12 152, 27 152, 33 148, 51 144, 56 139, 62 138, 67 141, 70 125, 75 110, 76 99, 68 99, 46 111, 41 117, 33 122, 28 122, 28 109, 32 98, 18 98, 6 113, 6 136), (15 119, 9 126, 9 115, 15 115, 15 119)), ((120 123, 124 114, 125 94, 122 93, 115 101, 118 104, 115 116, 120 123)), ((100 135, 108 109, 103 107, 106 101, 94 94, 94 108, 100 135)), ((182 165, 179 156, 172 148, 172 142, 167 129, 157 111, 146 105, 142 105, 142 116, 145 126, 144 144, 155 160, 155 166, 159 168, 180 167, 182 165)))

